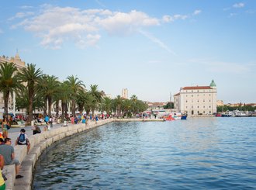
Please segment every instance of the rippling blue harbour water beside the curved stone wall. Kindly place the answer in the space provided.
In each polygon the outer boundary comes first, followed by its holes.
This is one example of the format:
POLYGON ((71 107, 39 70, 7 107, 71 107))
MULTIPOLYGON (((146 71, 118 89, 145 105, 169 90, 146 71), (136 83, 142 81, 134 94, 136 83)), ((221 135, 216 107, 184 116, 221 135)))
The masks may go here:
POLYGON ((256 118, 109 123, 63 141, 34 189, 256 188, 256 118))

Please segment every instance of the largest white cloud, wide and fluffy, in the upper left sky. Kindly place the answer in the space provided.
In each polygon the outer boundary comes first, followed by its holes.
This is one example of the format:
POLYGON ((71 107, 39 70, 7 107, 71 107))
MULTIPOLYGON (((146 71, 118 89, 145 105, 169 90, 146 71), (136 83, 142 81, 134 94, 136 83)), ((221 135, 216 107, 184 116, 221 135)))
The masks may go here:
POLYGON ((110 34, 127 35, 139 29, 159 25, 158 19, 144 12, 111 12, 108 9, 76 9, 42 5, 34 16, 32 12, 18 12, 12 19, 24 18, 12 26, 22 27, 40 37, 44 47, 60 48, 72 40, 80 47, 94 46, 99 41, 102 29, 110 34), (25 18, 29 16, 29 18, 25 18))

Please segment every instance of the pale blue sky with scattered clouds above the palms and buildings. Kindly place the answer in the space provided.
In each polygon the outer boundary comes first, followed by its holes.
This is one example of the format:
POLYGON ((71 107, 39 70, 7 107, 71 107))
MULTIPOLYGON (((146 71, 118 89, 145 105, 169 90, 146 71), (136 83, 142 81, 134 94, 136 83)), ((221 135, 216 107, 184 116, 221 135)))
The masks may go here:
POLYGON ((185 86, 256 103, 256 1, 2 0, 0 55, 60 81, 168 102, 185 86))

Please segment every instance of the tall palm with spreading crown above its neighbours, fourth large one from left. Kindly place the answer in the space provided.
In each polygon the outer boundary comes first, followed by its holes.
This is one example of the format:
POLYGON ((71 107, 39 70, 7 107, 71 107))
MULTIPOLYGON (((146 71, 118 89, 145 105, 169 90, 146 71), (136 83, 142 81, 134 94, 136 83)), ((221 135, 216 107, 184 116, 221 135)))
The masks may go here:
POLYGON ((77 95, 79 91, 84 90, 85 85, 83 81, 80 81, 77 77, 74 77, 74 75, 67 77, 67 85, 71 88, 71 110, 72 115, 75 116, 75 95, 77 95))

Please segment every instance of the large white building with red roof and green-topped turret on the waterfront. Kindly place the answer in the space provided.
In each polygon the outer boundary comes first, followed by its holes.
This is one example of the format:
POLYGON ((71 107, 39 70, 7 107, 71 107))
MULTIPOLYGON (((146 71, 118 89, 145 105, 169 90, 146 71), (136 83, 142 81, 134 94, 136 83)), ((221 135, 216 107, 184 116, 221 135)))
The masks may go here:
POLYGON ((216 112, 216 84, 209 86, 188 86, 180 88, 174 95, 174 105, 177 112, 188 115, 209 115, 216 112))

